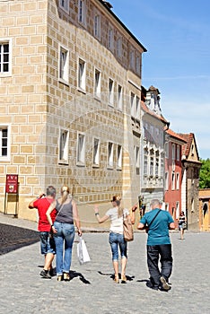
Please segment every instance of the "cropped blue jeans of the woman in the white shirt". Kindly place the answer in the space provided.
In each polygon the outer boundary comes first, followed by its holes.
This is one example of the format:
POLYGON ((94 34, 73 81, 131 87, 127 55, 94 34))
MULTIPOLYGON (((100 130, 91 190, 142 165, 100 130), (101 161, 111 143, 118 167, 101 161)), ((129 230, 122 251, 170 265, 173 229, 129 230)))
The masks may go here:
POLYGON ((123 234, 110 232, 109 244, 111 247, 112 261, 118 261, 118 247, 121 258, 127 258, 127 241, 124 240, 123 234))

